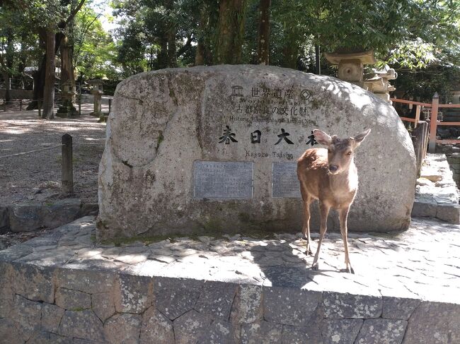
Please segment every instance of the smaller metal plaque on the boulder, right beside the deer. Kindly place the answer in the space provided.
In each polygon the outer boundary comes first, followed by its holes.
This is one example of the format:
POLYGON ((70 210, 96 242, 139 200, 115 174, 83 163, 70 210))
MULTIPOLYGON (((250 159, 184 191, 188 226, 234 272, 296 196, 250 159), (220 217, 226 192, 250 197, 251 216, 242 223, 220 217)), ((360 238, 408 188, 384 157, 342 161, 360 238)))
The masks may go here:
POLYGON ((301 197, 297 162, 272 163, 272 197, 301 197))

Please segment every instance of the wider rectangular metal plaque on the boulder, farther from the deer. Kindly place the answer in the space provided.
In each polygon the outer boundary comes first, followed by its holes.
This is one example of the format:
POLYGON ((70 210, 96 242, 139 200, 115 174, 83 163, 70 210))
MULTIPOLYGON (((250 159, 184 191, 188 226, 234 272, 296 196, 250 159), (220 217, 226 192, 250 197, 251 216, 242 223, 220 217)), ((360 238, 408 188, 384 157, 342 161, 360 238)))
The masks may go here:
POLYGON ((195 198, 252 198, 253 162, 195 161, 195 198))

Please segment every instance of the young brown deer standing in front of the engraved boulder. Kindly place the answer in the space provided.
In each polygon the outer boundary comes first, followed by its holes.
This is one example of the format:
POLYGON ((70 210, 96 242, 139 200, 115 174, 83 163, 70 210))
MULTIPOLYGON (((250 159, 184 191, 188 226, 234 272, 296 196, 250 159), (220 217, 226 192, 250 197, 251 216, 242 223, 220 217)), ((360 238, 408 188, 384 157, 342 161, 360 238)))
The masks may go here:
POLYGON ((326 223, 330 208, 337 209, 340 220, 340 232, 345 247, 345 270, 355 273, 350 264, 347 242, 347 217, 350 206, 355 200, 358 189, 358 174, 353 153, 357 146, 370 133, 371 129, 363 131, 355 137, 338 138, 329 136, 315 129, 313 134, 316 141, 325 148, 311 148, 297 160, 297 177, 299 177, 301 195, 304 200, 303 238, 306 240, 306 254, 311 254, 310 245, 310 204, 315 199, 319 201, 321 213, 320 237, 318 249, 311 268, 318 270, 318 257, 321 242, 326 234, 326 223))

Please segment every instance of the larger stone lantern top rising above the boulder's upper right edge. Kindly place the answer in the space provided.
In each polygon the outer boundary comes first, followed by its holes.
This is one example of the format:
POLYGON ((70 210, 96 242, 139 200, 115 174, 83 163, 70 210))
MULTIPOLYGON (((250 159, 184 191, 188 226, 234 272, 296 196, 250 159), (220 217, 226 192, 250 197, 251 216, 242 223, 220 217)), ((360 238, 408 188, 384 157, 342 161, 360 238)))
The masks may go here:
POLYGON ((338 78, 364 88, 363 74, 365 64, 375 64, 374 51, 352 53, 326 53, 330 64, 338 64, 338 78))

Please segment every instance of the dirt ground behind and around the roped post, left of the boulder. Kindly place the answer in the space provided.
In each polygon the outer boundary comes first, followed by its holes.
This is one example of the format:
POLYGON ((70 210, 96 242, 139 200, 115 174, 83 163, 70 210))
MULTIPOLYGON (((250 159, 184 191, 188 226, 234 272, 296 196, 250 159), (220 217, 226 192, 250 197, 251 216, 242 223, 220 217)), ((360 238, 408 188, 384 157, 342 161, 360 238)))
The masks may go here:
MULTIPOLYGON (((92 106, 83 104, 83 115, 76 119, 40 119, 37 110, 0 111, 0 157, 57 146, 62 135, 70 134, 74 144, 74 196, 97 203, 105 124, 88 115, 92 106)), ((103 111, 108 111, 107 105, 103 105, 103 111)), ((0 158, 0 206, 63 198, 60 187, 61 148, 0 158)))

